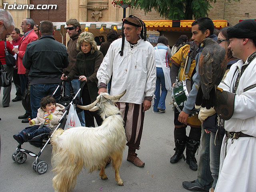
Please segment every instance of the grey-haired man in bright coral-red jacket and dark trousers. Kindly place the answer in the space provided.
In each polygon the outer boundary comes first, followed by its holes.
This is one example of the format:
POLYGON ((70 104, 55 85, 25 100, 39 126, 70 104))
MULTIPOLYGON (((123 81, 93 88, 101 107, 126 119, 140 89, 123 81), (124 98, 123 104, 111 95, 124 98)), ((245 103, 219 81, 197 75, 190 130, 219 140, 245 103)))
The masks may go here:
MULTIPOLYGON (((28 81, 28 74, 25 75, 26 69, 22 64, 22 60, 23 60, 27 45, 30 42, 37 40, 38 38, 37 34, 33 30, 34 24, 35 24, 34 20, 32 20, 31 18, 25 18, 22 20, 20 27, 22 28, 22 32, 24 33, 24 36, 20 40, 20 44, 18 48, 14 47, 12 50, 14 53, 17 54, 18 74, 20 76, 20 87, 21 87, 22 95, 28 81)), ((18 119, 23 119, 21 121, 22 123, 28 123, 29 122, 28 118, 31 118, 31 111, 26 111, 24 115, 18 116, 18 119)))

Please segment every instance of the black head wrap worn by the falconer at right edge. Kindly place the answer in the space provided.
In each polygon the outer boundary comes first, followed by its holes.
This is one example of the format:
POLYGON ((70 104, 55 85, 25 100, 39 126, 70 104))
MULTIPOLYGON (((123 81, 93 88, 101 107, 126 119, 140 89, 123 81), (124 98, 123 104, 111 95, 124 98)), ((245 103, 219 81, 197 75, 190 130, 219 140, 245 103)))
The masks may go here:
POLYGON ((227 29, 228 38, 248 38, 256 41, 256 21, 247 19, 227 29))

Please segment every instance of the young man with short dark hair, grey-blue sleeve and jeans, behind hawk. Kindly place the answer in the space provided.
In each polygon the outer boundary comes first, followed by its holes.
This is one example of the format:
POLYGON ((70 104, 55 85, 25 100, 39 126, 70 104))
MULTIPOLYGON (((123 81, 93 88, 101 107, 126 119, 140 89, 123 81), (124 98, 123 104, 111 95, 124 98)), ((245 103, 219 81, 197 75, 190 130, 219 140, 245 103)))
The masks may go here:
MULTIPOLYGON (((197 89, 195 84, 198 84, 200 81, 198 74, 198 60, 200 54, 203 50, 201 46, 202 40, 205 38, 212 38, 217 41, 217 36, 214 34, 214 24, 212 20, 208 17, 202 17, 198 20, 195 20, 192 23, 192 40, 199 45, 198 54, 196 55, 196 73, 193 76, 194 85, 188 96, 187 102, 184 104, 183 111, 180 112, 178 121, 184 124, 187 124, 188 116, 191 113, 191 110, 195 106, 197 89)), ((201 140, 202 150, 200 152, 200 160, 198 164, 197 179, 194 181, 184 181, 182 186, 190 191, 209 191, 212 187, 212 173, 210 171, 210 134, 206 134, 204 129, 202 129, 202 140, 201 140)), ((194 151, 196 152, 196 151, 194 151)))

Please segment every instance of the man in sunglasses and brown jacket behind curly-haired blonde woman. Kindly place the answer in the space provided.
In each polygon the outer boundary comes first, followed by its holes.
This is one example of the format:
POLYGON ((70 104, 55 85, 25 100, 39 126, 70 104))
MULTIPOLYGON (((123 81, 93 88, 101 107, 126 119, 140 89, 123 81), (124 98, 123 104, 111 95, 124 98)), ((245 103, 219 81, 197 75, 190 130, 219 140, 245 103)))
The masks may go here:
MULTIPOLYGON (((76 48, 76 42, 77 42, 78 36, 82 33, 82 29, 81 29, 80 23, 76 19, 69 19, 66 22, 66 25, 67 25, 66 29, 70 37, 70 40, 68 41, 68 46, 67 46, 69 64, 67 68, 64 68, 63 72, 64 74, 68 75, 72 70, 72 68, 74 67, 74 65, 76 64, 76 55, 79 53, 79 51, 76 48)), ((73 79, 71 80, 71 84, 74 89, 74 92, 76 93, 80 88, 80 81, 78 79, 73 79)), ((69 82, 66 82, 66 94, 70 94, 69 82)), ((85 126, 84 112, 82 111, 77 115, 81 125, 85 126)))

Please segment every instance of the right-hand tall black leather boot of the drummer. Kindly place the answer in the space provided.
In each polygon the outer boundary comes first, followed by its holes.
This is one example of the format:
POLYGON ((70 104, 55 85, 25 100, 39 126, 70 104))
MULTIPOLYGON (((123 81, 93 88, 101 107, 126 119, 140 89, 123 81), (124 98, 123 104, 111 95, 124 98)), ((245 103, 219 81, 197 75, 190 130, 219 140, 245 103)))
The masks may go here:
POLYGON ((187 148, 186 148, 186 162, 189 165, 189 168, 196 171, 197 170, 197 161, 195 158, 196 151, 200 145, 200 141, 193 140, 188 138, 187 148))

